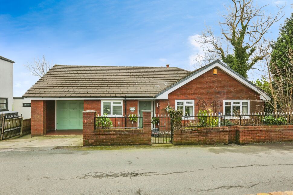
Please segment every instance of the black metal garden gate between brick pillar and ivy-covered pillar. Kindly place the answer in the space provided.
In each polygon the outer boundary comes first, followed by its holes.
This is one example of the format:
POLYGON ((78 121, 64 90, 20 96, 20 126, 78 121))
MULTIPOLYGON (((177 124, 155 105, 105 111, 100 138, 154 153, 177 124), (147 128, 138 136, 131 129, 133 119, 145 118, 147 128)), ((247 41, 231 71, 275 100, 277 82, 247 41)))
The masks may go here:
POLYGON ((172 143, 173 132, 169 115, 152 117, 152 144, 172 143))

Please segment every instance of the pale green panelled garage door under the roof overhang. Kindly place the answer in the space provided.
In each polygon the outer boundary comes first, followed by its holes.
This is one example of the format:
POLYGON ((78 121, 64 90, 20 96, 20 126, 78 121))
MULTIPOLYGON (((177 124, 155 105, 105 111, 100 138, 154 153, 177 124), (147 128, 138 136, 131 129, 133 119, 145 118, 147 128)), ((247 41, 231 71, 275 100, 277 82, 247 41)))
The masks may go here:
POLYGON ((56 129, 82 129, 83 101, 57 101, 56 129))

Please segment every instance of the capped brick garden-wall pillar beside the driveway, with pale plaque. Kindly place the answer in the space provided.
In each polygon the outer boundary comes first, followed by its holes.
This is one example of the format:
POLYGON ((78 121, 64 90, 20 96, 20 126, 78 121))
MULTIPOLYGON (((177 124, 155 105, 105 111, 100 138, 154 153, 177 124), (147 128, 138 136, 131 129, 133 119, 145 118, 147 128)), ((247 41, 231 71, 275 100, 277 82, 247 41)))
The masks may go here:
POLYGON ((95 136, 95 116, 97 111, 95 110, 85 110, 82 112, 83 118, 83 146, 92 145, 91 143, 94 142, 95 136))

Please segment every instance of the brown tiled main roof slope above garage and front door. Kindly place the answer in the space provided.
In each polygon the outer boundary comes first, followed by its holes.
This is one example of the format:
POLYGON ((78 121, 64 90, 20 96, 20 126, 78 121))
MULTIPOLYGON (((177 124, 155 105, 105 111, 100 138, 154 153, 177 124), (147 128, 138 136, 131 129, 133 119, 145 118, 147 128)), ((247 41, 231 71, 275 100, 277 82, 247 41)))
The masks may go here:
POLYGON ((153 97, 189 71, 176 67, 55 65, 24 97, 153 97))

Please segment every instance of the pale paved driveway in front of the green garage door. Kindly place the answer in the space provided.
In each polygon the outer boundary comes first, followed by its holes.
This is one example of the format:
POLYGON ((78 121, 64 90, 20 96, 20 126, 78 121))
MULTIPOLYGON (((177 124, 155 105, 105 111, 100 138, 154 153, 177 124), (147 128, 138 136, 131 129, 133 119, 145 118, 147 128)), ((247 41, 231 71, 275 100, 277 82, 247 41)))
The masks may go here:
POLYGON ((82 145, 82 135, 31 137, 29 134, 16 139, 0 141, 0 149, 82 145))

